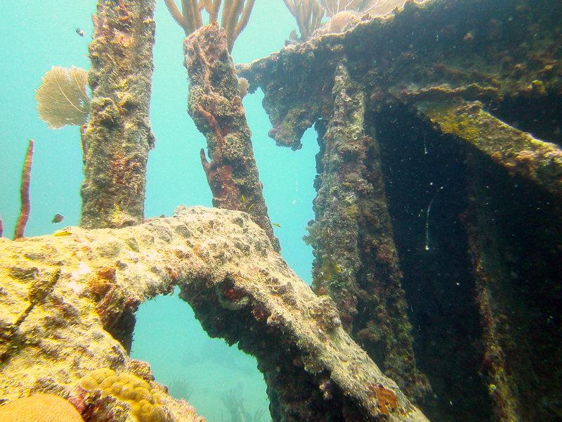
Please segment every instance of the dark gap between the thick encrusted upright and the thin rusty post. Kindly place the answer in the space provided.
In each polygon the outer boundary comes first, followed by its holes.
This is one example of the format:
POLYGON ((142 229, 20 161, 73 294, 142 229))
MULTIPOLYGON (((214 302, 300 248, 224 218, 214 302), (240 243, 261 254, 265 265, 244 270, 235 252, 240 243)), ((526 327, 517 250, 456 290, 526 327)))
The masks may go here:
POLYGON ((432 421, 485 421, 481 326, 467 239, 464 159, 401 106, 367 119, 377 128, 386 194, 414 326, 414 351, 433 399, 432 421), (430 207, 431 205, 431 207, 430 207))

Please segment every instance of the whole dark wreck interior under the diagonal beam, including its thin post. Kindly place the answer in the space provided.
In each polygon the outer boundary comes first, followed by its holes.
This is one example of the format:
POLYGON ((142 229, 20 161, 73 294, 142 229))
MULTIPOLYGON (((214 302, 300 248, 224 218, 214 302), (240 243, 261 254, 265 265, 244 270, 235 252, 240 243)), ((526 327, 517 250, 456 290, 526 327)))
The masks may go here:
POLYGON ((434 393, 421 408, 435 421, 485 421, 502 409, 559 421, 561 204, 405 106, 367 124, 380 144, 417 364, 434 393), (508 395, 497 393, 501 380, 508 395))

